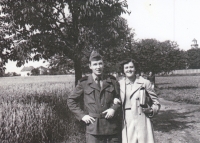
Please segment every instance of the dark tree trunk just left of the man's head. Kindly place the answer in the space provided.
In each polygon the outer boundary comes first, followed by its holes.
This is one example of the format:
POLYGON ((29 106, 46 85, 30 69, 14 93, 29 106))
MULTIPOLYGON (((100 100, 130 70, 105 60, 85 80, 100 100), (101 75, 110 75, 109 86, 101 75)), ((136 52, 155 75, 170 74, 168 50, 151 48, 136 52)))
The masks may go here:
POLYGON ((82 69, 81 69, 81 60, 75 59, 74 60, 74 69, 75 69, 75 86, 78 83, 78 80, 82 78, 82 69))

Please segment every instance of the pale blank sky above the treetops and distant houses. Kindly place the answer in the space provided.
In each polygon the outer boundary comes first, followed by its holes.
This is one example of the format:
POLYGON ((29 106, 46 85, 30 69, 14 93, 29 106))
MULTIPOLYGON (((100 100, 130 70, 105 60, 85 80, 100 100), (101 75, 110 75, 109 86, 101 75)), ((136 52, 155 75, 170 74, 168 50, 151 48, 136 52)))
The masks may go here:
MULTIPOLYGON (((177 42, 179 48, 188 50, 193 39, 200 42, 200 0, 127 0, 131 14, 123 14, 135 39, 154 38, 177 42)), ((20 73, 16 62, 6 64, 7 72, 20 73)), ((45 66, 43 61, 29 62, 25 66, 45 66)))

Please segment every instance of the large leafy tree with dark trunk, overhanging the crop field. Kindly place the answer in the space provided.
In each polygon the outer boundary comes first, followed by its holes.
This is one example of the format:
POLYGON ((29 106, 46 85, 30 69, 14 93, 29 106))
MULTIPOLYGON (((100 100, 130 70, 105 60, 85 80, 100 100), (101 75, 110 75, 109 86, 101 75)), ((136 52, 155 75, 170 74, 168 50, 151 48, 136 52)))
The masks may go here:
POLYGON ((64 55, 74 62, 75 83, 82 76, 85 52, 91 52, 94 46, 107 49, 104 42, 125 40, 118 28, 123 27, 119 16, 126 12, 125 0, 3 0, 0 4, 2 24, 8 25, 5 32, 14 34, 13 46, 7 43, 10 53, 5 59, 15 60, 20 66, 28 60, 64 55))

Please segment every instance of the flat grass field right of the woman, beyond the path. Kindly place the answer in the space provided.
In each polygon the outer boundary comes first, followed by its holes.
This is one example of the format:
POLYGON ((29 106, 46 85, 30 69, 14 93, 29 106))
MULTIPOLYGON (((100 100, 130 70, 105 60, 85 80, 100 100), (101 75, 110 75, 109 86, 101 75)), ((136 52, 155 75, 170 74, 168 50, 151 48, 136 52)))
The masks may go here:
POLYGON ((200 104, 200 76, 156 77, 156 87, 164 99, 200 104))

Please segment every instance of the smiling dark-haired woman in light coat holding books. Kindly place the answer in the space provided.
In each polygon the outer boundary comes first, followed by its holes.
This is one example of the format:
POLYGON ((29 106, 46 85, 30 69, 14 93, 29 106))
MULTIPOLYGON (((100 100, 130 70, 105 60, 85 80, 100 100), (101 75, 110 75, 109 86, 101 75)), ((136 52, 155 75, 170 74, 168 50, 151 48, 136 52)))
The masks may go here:
POLYGON ((119 80, 123 108, 122 143, 154 143, 150 118, 160 109, 157 95, 148 80, 136 77, 133 60, 125 60, 121 67, 125 74, 119 80))

